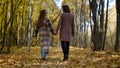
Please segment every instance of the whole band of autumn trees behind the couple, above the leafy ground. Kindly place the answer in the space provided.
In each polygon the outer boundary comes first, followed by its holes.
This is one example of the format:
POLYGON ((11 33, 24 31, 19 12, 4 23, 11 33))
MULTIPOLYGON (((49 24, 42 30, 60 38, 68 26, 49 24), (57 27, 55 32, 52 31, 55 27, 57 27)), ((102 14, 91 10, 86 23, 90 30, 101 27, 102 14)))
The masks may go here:
MULTIPOLYGON (((115 51, 118 51, 120 40, 119 3, 120 1, 116 0, 115 51)), ((72 44, 84 48, 91 45, 94 51, 104 50, 108 33, 109 0, 107 0, 106 10, 105 0, 64 0, 63 4, 68 4, 71 12, 75 15, 75 37, 72 44)), ((61 11, 56 7, 53 0, 0 1, 0 53, 10 53, 13 45, 17 45, 18 48, 28 45, 29 51, 30 45, 39 45, 39 40, 34 39, 32 33, 41 9, 47 10, 48 17, 55 27, 61 11)), ((51 45, 57 45, 57 40, 59 40, 58 37, 55 38, 51 35, 51 45)))

